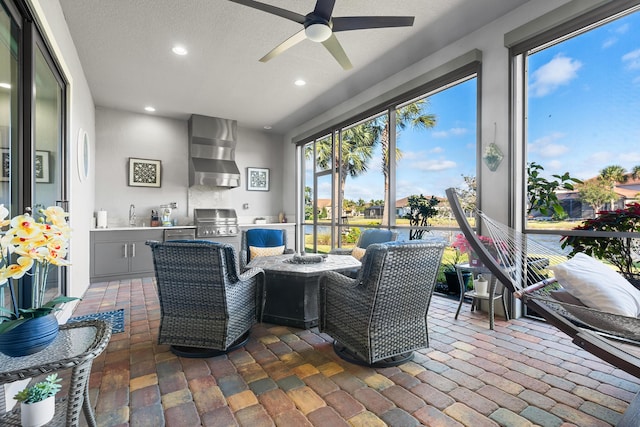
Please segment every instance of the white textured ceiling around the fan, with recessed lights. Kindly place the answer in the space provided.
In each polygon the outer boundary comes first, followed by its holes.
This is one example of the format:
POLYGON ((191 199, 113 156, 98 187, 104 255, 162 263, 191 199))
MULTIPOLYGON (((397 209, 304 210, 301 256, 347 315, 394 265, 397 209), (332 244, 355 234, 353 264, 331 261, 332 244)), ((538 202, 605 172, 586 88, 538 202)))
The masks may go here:
MULTIPOLYGON (((315 0, 263 0, 306 15, 315 0)), ((60 0, 98 107, 186 119, 201 114, 284 134, 527 0, 337 0, 333 16, 408 15, 413 27, 337 33, 344 71, 305 40, 258 62, 301 29, 226 0, 60 0), (189 50, 171 52, 174 44, 189 50), (306 86, 294 86, 302 78, 306 86)))

